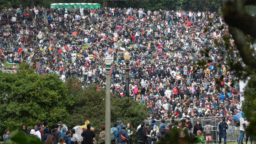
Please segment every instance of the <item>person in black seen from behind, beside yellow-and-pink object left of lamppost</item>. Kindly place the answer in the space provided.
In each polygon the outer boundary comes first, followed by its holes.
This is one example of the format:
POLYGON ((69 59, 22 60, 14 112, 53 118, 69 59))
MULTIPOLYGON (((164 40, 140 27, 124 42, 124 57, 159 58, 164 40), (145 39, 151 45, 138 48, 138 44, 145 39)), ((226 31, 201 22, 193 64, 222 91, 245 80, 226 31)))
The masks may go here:
POLYGON ((91 130, 91 125, 87 124, 87 129, 84 130, 81 134, 82 137, 84 137, 82 144, 93 144, 95 137, 95 133, 91 130))

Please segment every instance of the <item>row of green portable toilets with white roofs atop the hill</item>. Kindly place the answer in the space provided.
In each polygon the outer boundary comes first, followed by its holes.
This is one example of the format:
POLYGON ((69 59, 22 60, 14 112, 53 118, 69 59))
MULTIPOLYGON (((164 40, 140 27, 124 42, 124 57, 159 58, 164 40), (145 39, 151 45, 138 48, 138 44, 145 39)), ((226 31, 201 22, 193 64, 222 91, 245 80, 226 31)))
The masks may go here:
POLYGON ((76 7, 82 7, 82 8, 90 8, 90 9, 93 9, 93 8, 100 8, 100 4, 98 3, 53 3, 51 4, 51 8, 55 8, 55 7, 64 7, 64 8, 72 8, 72 6, 74 8, 76 7))

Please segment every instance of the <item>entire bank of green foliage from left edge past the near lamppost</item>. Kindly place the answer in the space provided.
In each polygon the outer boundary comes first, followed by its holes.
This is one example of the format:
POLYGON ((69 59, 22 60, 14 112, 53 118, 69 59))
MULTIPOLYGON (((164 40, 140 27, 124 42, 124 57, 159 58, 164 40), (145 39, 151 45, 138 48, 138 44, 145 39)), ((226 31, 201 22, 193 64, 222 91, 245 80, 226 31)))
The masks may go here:
MULTIPOLYGON (((89 120, 98 136, 105 125, 105 89, 82 87, 76 79, 63 83, 55 74, 39 76, 23 63, 15 74, 0 71, 0 133, 8 125, 21 129, 37 122, 48 125, 63 121, 69 128, 89 120)), ((148 108, 127 98, 111 96, 111 121, 123 120, 137 127, 148 116, 148 108)))

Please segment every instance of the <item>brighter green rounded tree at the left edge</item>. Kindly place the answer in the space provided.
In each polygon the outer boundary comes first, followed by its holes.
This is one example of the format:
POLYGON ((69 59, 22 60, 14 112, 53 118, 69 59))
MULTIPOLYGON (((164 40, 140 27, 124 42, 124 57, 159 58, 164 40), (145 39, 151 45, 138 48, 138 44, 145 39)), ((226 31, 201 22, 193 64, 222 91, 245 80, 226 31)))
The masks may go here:
POLYGON ((0 72, 0 131, 37 122, 56 123, 68 118, 73 105, 65 84, 54 74, 39 76, 27 64, 15 74, 0 72))

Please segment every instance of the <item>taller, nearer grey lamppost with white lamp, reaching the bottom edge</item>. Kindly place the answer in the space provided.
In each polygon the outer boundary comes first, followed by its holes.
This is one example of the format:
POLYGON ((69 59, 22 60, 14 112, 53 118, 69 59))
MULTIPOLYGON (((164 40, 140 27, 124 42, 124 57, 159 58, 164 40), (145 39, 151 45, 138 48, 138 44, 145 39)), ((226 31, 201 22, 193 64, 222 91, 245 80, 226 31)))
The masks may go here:
POLYGON ((112 63, 112 58, 108 55, 105 58, 106 64, 106 105, 105 105, 105 143, 111 144, 110 140, 110 128, 111 128, 111 120, 110 120, 110 66, 112 63))

